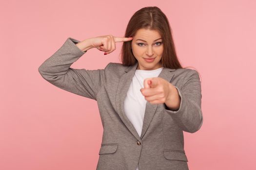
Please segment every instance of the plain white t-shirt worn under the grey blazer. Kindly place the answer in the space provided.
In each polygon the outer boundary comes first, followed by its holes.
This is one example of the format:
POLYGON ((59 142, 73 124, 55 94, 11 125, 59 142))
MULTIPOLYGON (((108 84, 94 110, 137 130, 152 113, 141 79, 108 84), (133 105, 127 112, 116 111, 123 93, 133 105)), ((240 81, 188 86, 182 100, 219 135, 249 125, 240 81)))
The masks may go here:
MULTIPOLYGON (((147 103, 145 97, 141 94, 140 89, 144 88, 144 79, 150 77, 158 77, 162 69, 163 67, 154 70, 136 69, 132 83, 125 97, 125 115, 132 122, 139 136, 141 136, 143 119, 147 103)), ((138 170, 138 166, 136 170, 138 170)))

